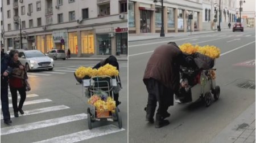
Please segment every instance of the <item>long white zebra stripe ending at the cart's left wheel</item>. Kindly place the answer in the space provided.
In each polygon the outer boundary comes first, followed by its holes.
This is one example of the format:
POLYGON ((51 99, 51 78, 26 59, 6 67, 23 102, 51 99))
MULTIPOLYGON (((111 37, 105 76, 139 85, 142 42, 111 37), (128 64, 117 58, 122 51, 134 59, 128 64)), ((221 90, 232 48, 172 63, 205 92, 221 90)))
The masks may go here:
POLYGON ((1 128, 1 136, 2 135, 9 135, 11 133, 30 131, 32 129, 50 127, 50 126, 53 126, 53 125, 73 122, 73 121, 77 121, 77 120, 83 120, 83 119, 86 119, 86 118, 87 118, 87 114, 82 113, 82 114, 64 116, 64 117, 55 118, 55 119, 43 120, 43 121, 34 122, 34 123, 14 125, 14 126, 11 126, 11 127, 1 128))

